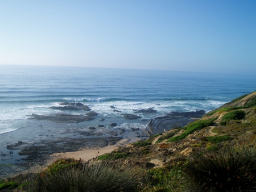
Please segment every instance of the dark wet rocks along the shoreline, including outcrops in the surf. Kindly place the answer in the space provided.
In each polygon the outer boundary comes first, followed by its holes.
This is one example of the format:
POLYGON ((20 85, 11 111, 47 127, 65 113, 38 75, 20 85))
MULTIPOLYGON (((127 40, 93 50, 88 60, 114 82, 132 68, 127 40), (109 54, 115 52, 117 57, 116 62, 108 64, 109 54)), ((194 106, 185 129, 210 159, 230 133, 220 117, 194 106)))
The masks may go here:
MULTIPOLYGON (((97 112, 92 111, 88 106, 79 102, 62 102, 59 105, 49 108, 69 111, 83 110, 88 112, 84 115, 66 113, 48 115, 32 114, 29 119, 49 120, 57 123, 79 123, 85 120, 92 120, 98 115, 97 112)), ((111 106, 111 108, 114 108, 114 106, 111 106)), ((149 107, 147 109, 135 110, 134 113, 155 114, 157 111, 149 107)), ((171 112, 165 116, 152 118, 150 121, 142 119, 141 121, 143 122, 149 121, 146 128, 129 127, 123 129, 118 127, 117 123, 113 122, 109 124, 110 128, 102 129, 101 127, 105 126, 99 124, 98 127, 88 127, 85 130, 74 128, 66 130, 66 133, 76 133, 75 137, 64 136, 32 143, 16 141, 16 143, 6 146, 9 153, 1 152, 0 154, 3 157, 1 159, 6 162, 5 165, 1 165, 0 178, 6 177, 10 173, 18 173, 27 167, 43 165, 53 153, 75 152, 81 149, 100 149, 108 145, 114 145, 122 139, 130 139, 131 137, 135 137, 137 140, 146 139, 148 136, 163 133, 175 127, 183 127, 195 120, 195 118, 201 118, 204 114, 205 111, 171 112)), ((134 114, 120 115, 127 121, 141 118, 141 116, 134 114)), ((104 118, 100 119, 100 121, 103 120, 104 118)))

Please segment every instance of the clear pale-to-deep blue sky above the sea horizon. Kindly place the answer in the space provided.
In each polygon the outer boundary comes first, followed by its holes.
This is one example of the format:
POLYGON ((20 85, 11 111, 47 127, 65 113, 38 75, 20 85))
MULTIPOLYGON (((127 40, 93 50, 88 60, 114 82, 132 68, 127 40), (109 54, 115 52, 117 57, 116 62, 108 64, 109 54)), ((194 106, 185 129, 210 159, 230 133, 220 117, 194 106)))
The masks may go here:
POLYGON ((0 65, 256 74, 256 1, 0 1, 0 65))

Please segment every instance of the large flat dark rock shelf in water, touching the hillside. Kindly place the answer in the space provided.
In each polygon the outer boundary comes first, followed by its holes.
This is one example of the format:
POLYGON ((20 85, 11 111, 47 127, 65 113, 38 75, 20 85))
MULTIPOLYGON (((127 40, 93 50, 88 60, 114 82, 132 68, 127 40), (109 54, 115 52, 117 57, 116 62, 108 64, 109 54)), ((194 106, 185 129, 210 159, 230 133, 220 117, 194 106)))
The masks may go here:
POLYGON ((175 127, 184 127, 193 122, 195 118, 201 118, 205 114, 204 110, 177 112, 173 111, 166 116, 153 118, 147 125, 147 131, 150 135, 167 132, 175 127))

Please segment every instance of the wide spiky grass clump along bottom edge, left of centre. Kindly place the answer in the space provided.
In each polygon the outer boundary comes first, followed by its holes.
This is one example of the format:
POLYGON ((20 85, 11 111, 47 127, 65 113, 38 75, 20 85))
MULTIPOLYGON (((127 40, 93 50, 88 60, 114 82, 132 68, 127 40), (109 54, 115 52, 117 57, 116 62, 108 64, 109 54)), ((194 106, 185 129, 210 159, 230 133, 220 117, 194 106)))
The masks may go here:
POLYGON ((51 176, 38 174, 30 184, 30 191, 136 191, 141 177, 138 170, 135 173, 132 169, 122 169, 110 161, 85 163, 81 168, 61 169, 51 176))

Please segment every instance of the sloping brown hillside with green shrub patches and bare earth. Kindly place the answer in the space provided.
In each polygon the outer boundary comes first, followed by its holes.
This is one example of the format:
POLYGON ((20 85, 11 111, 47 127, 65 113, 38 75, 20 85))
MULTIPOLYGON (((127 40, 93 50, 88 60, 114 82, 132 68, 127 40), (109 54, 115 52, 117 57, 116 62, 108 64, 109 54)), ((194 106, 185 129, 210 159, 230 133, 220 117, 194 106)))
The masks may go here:
POLYGON ((156 168, 186 159, 196 152, 218 151, 224 146, 256 139, 256 92, 243 95, 210 111, 188 126, 159 133, 147 140, 115 149, 125 153, 123 164, 156 168))

